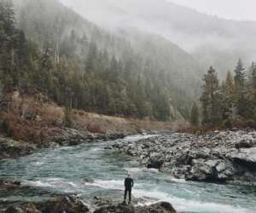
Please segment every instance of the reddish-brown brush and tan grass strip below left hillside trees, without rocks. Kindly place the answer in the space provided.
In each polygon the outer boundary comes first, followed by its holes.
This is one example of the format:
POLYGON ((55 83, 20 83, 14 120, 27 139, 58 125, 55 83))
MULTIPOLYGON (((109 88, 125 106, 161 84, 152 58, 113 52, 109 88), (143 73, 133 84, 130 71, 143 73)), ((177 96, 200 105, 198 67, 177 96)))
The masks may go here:
MULTIPOLYGON (((49 136, 59 135, 65 125, 65 109, 58 107, 43 95, 20 95, 18 92, 7 95, 9 107, 2 109, 0 121, 7 121, 11 136, 15 140, 40 142, 49 136)), ((93 133, 119 132, 136 134, 143 130, 181 130, 188 124, 173 124, 118 118, 96 113, 73 110, 70 113, 72 128, 93 133)), ((3 133, 3 132, 2 132, 3 133)), ((0 132, 1 134, 1 132, 0 132)))

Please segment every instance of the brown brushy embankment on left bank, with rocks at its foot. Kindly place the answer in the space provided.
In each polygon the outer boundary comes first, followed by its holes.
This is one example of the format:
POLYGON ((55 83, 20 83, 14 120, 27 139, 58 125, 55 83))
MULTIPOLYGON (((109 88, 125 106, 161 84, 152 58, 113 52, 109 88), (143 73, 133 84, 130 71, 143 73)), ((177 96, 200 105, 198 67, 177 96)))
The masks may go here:
POLYGON ((20 95, 16 91, 2 99, 0 108, 0 148, 6 151, 4 156, 17 153, 9 153, 8 147, 12 144, 15 144, 14 150, 25 155, 32 152, 31 148, 26 150, 21 146, 26 142, 32 147, 68 146, 83 141, 114 140, 125 135, 180 128, 179 124, 67 110, 39 93, 20 95))

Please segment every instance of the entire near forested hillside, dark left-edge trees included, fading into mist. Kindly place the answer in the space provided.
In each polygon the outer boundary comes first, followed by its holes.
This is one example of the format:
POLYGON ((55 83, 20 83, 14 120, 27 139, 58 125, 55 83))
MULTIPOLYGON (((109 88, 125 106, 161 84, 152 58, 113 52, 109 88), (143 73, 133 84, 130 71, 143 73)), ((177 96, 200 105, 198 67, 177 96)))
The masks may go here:
POLYGON ((61 106, 109 115, 189 118, 198 79, 184 77, 200 69, 182 49, 139 33, 136 43, 115 37, 55 0, 15 6, 1 1, 4 92, 36 89, 61 106))

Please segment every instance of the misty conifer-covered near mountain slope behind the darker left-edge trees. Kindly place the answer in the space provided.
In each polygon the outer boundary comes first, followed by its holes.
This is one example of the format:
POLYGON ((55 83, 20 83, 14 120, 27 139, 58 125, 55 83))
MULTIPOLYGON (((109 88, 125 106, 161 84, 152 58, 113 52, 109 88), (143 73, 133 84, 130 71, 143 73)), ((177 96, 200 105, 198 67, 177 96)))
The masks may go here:
MULTIPOLYGON (((73 107, 112 115, 189 118, 199 84, 195 73, 201 70, 183 49, 137 30, 114 36, 55 0, 15 0, 15 5, 26 36, 43 53, 49 47, 55 62, 60 60, 64 67, 68 62, 74 79, 82 81, 68 86, 71 94, 61 95, 58 103, 72 100, 73 107)), ((55 97, 66 90, 58 75, 55 97)))

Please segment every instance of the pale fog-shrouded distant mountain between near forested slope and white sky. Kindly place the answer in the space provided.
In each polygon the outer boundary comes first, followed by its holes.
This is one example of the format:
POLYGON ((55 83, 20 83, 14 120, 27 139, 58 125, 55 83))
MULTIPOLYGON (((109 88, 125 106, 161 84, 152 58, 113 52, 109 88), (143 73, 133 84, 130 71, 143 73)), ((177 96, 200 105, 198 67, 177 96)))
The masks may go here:
POLYGON ((255 60, 256 22, 224 20, 165 0, 61 0, 112 32, 137 29, 165 37, 194 55, 203 68, 232 69, 255 60))

